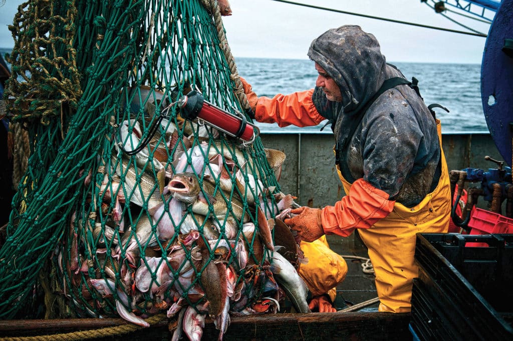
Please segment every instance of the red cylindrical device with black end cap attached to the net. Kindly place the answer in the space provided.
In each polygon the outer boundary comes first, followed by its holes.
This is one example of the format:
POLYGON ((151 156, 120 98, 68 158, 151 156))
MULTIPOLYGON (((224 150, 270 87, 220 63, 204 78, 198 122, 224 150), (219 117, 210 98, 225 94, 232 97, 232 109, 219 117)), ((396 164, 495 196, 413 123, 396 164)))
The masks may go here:
POLYGON ((244 141, 254 139, 254 126, 247 123, 246 118, 234 116, 232 113, 205 101, 203 95, 199 92, 190 91, 187 96, 180 98, 179 106, 182 109, 181 116, 184 119, 199 118, 233 137, 244 141))

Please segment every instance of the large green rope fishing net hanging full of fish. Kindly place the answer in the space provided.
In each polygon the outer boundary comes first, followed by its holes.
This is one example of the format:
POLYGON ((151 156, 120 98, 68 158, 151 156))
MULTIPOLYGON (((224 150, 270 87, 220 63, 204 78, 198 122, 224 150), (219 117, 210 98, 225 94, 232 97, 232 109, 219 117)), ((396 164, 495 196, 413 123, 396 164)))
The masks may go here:
POLYGON ((277 297, 262 237, 283 199, 270 151, 183 120, 175 103, 198 89, 247 107, 219 18, 215 1, 20 7, 9 111, 31 156, 0 250, 0 318, 26 316, 48 259, 69 316, 141 323, 180 304, 219 316, 225 299, 242 311, 277 297))

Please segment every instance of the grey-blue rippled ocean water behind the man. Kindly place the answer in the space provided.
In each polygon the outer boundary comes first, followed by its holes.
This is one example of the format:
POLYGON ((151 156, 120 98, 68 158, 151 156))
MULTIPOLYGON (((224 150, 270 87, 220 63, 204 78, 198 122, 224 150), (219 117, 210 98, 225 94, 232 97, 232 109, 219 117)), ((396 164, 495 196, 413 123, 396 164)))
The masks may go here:
MULTIPOLYGON (((235 58, 239 74, 258 96, 272 97, 314 87, 317 71, 309 60, 235 58)), ((488 132, 481 102, 480 64, 394 63, 407 80, 415 77, 424 102, 438 103, 450 112, 435 109, 442 132, 488 132)), ((322 124, 321 124, 322 125, 322 124)), ((259 124, 262 131, 283 130, 259 124)), ((285 128, 288 131, 319 131, 319 127, 285 128)), ((326 127, 324 131, 331 132, 326 127)))

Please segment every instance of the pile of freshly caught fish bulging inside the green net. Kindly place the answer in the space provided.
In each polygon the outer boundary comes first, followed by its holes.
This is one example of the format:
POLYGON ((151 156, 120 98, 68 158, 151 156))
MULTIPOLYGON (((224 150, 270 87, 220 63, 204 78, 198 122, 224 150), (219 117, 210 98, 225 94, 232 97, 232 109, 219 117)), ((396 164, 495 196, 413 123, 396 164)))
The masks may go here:
POLYGON ((165 312, 178 321, 173 339, 191 340, 206 317, 222 339, 230 315, 275 313, 285 298, 309 312, 297 272, 304 260, 283 223, 294 197, 264 185, 262 160, 279 177, 285 154, 258 155, 178 116, 129 156, 146 136, 144 120, 122 122, 91 212, 75 212, 56 251, 73 310, 117 312, 144 327, 165 312))

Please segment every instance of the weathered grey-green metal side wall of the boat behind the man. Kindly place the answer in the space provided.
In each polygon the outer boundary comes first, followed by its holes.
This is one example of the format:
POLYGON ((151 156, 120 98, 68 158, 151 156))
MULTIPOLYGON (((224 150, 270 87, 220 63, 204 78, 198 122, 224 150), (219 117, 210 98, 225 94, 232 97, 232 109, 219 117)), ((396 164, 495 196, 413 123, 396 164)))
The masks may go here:
MULTIPOLYGON (((311 207, 332 205, 345 195, 334 167, 333 136, 330 134, 260 135, 266 148, 284 151, 287 159, 282 168, 280 186, 297 202, 311 207)), ((442 146, 449 171, 467 167, 496 168, 485 156, 502 160, 490 134, 442 135, 442 146)))

